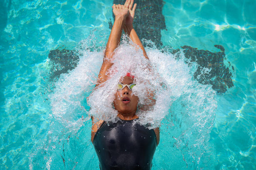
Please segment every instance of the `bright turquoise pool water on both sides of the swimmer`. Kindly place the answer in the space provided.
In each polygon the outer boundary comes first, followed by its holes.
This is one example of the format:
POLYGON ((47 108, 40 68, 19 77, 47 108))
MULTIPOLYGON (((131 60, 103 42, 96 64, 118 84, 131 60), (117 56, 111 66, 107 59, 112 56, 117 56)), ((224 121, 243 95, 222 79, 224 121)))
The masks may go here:
MULTIPOLYGON (((1 169, 99 169, 86 102, 94 77, 83 76, 99 70, 113 21, 111 6, 108 0, 2 2, 1 169), (55 49, 78 49, 80 61, 64 66, 60 58, 48 57, 55 49), (75 69, 64 74, 71 67, 75 69), (61 107, 56 107, 59 101, 61 107)), ((255 9, 254 0, 163 2, 162 46, 148 47, 147 52, 156 66, 165 64, 173 71, 161 72, 167 82, 181 83, 171 85, 172 90, 184 92, 171 96, 175 100, 162 120, 152 169, 256 169, 255 9), (188 67, 186 58, 174 60, 175 55, 160 52, 164 46, 185 45, 219 52, 216 44, 225 49, 220 64, 229 68, 233 83, 221 93, 190 81, 199 63, 188 67), (156 55, 168 60, 157 62, 156 55), (194 87, 186 85, 190 82, 194 87), (196 101, 184 102, 186 95, 199 101, 208 92, 215 94, 202 108, 196 101)))

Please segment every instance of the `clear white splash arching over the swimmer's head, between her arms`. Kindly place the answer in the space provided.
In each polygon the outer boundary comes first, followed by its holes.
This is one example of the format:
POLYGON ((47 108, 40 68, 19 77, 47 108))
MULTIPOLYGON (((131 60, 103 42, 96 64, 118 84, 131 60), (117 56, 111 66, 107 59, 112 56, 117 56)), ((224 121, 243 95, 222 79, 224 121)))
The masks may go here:
POLYGON ((129 72, 135 76, 134 82, 137 84, 132 94, 139 97, 136 113, 140 117, 139 123, 144 125, 150 123, 151 128, 158 127, 168 113, 171 90, 158 75, 156 66, 151 67, 150 61, 143 56, 142 50, 132 44, 129 39, 127 40, 127 37, 123 37, 121 45, 114 51, 111 62, 113 66, 108 71, 111 75, 109 80, 89 96, 90 114, 104 121, 116 121, 117 110, 112 107, 114 94, 119 80, 129 72), (151 103, 149 91, 154 93, 156 99, 156 104, 152 108, 148 106, 151 103), (144 109, 145 107, 147 109, 144 109))

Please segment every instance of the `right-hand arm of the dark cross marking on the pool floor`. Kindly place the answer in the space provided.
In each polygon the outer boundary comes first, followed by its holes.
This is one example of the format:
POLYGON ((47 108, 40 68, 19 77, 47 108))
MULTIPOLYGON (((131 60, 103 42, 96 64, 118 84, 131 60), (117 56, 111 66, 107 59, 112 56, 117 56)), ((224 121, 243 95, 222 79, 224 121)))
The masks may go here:
MULTIPOLYGON (((214 45, 220 52, 211 52, 208 50, 198 50, 191 46, 181 46, 181 49, 166 48, 168 52, 178 53, 183 51, 184 56, 190 60, 190 62, 196 62, 198 67, 194 73, 194 78, 199 83, 204 85, 212 85, 212 88, 218 93, 224 93, 228 88, 233 87, 232 74, 229 67, 224 65, 225 49, 221 45, 214 45), (169 49, 169 50, 168 50, 169 49)), ((166 51, 166 50, 165 50, 166 51)), ((191 65, 190 63, 188 63, 191 65)))

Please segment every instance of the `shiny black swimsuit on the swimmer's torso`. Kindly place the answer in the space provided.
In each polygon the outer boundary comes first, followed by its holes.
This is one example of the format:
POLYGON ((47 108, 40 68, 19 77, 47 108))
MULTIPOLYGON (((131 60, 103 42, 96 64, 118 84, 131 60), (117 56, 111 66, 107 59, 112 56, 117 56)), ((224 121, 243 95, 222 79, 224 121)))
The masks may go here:
POLYGON ((101 170, 150 170, 157 147, 153 129, 119 120, 97 130, 93 145, 101 170))

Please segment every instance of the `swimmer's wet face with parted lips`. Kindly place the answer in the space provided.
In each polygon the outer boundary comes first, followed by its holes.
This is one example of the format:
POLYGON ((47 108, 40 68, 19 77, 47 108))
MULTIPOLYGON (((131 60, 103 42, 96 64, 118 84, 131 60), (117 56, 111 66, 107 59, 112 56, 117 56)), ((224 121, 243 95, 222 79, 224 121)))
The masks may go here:
MULTIPOLYGON (((120 80, 120 83, 130 85, 133 83, 133 78, 124 76, 120 80)), ((132 113, 136 112, 137 104, 139 98, 135 95, 132 95, 132 90, 130 90, 127 86, 124 87, 123 90, 117 90, 114 95, 114 107, 118 112, 121 113, 132 113), (127 101, 128 100, 128 101, 127 101)))

